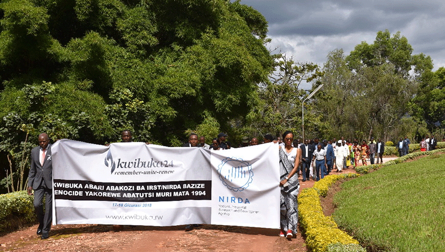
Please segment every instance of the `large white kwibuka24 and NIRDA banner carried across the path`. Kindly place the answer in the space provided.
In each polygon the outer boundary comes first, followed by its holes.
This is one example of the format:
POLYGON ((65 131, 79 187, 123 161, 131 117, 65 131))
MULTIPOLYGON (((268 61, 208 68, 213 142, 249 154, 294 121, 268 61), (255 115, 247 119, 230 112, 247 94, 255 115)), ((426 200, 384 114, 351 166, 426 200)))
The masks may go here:
POLYGON ((52 146, 53 223, 279 227, 278 146, 52 146))

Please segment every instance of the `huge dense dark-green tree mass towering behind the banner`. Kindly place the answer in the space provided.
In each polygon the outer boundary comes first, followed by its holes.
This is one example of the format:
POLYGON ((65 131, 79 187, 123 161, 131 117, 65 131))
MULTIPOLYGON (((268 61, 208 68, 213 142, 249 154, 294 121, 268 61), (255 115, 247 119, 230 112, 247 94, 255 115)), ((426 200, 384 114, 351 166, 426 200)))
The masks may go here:
POLYGON ((18 119, 0 129, 29 125, 33 144, 43 131, 103 144, 129 128, 176 146, 209 122, 228 130, 272 69, 267 21, 239 1, 4 0, 0 13, 0 118, 18 119))

